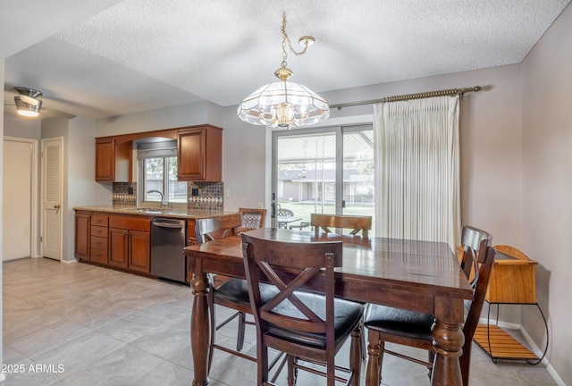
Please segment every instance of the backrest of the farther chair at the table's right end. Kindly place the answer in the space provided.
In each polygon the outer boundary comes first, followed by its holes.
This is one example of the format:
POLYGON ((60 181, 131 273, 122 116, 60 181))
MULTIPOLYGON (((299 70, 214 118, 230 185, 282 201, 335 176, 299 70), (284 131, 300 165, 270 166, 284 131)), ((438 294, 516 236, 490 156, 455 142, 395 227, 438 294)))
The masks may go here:
POLYGON ((475 287, 478 279, 478 255, 483 248, 491 246, 492 235, 487 231, 480 230, 468 225, 463 226, 461 231, 461 257, 459 264, 461 269, 467 276, 467 280, 471 282, 471 286, 475 287))

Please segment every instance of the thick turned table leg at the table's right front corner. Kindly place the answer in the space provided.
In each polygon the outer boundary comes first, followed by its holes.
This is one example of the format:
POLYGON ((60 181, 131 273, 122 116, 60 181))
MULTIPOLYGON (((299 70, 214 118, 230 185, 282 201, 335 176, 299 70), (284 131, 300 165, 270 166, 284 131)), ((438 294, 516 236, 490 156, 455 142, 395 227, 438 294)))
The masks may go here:
POLYGON ((433 324, 432 386, 461 386, 461 356, 465 335, 461 328, 463 319, 462 299, 435 298, 435 323, 433 324))

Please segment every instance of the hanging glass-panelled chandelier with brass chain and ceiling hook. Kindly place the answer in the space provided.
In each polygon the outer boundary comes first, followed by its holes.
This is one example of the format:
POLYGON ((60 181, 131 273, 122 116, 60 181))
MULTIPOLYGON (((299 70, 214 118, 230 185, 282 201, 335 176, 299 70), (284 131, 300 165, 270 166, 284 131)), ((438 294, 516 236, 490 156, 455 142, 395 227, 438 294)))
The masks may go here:
POLYGON ((292 71, 286 67, 286 43, 294 55, 303 55, 307 47, 315 43, 315 38, 303 36, 299 43, 304 49, 297 52, 286 34, 286 15, 282 14, 282 65, 274 72, 280 81, 258 88, 239 105, 237 114, 244 122, 264 125, 273 129, 288 129, 312 125, 330 116, 330 106, 322 96, 298 83, 287 80, 292 71))

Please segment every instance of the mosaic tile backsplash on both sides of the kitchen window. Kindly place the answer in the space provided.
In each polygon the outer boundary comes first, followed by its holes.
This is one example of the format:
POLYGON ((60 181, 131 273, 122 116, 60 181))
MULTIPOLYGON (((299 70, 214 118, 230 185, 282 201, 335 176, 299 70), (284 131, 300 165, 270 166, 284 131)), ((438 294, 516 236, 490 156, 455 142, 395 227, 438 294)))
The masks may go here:
MULTIPOLYGON (((222 211, 224 207, 223 182, 189 182, 187 206, 195 210, 222 211)), ((137 182, 114 182, 114 206, 137 206, 137 182)))

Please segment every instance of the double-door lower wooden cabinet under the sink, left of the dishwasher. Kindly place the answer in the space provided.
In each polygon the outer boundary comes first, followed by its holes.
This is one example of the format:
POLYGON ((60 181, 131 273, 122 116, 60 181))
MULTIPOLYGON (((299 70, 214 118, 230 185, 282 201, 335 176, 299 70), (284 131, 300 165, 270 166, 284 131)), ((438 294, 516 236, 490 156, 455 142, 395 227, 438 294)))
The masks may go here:
POLYGON ((109 265, 150 272, 151 219, 140 216, 109 216, 109 265))

